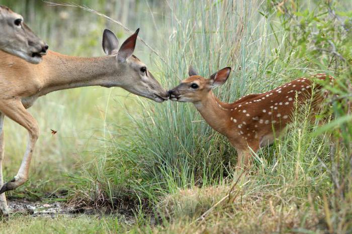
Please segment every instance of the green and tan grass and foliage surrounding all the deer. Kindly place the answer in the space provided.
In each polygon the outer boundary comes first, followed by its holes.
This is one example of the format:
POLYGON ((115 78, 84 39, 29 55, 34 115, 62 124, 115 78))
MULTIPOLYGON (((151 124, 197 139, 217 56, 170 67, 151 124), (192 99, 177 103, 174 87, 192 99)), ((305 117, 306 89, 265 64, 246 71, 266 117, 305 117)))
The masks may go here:
MULTIPOLYGON (((65 54, 102 55, 104 27, 122 39, 129 35, 80 8, 0 3, 22 13, 51 49, 65 54)), ((235 151, 192 104, 158 104, 98 87, 52 93, 31 109, 42 130, 31 181, 10 195, 45 197, 65 188, 69 202, 133 212, 135 219, 130 224, 114 215, 58 217, 46 231, 352 231, 349 1, 75 3, 132 31, 140 27, 141 38, 160 56, 142 43, 135 54, 166 87, 187 77, 190 64, 204 76, 231 66, 230 80, 215 90, 229 102, 296 77, 331 74, 336 85, 325 86, 331 92, 326 106, 334 120, 322 127, 311 124, 309 106, 303 107, 283 138, 253 155, 255 166, 243 176, 233 171, 235 151), (50 136, 50 129, 58 133, 50 136), (75 226, 87 219, 87 229, 75 226)), ((5 130, 5 175, 11 178, 26 134, 9 120, 5 130)), ((23 225, 38 232, 47 221, 11 219, 2 225, 14 233, 23 225)))

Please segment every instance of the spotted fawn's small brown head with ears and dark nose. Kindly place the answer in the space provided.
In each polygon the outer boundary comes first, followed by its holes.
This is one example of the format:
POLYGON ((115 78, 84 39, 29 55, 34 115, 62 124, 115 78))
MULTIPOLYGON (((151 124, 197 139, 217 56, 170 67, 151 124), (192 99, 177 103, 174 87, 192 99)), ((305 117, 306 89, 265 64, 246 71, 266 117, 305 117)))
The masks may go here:
POLYGON ((210 91, 226 82, 231 72, 230 67, 225 67, 212 74, 206 79, 190 66, 188 73, 189 78, 183 80, 181 84, 169 90, 169 97, 172 101, 198 102, 206 97, 210 91))

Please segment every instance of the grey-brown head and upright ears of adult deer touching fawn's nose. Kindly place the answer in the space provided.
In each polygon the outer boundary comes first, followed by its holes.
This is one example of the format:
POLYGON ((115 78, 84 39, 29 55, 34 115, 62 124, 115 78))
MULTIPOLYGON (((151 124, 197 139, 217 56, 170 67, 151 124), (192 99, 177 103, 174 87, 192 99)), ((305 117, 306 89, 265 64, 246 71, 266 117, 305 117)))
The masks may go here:
MULTIPOLYGON (((115 68, 113 77, 119 78, 119 86, 139 96, 156 102, 168 100, 167 91, 149 72, 147 66, 133 55, 139 29, 126 39, 119 49, 119 40, 113 32, 106 29, 103 34, 103 49, 109 56, 114 56, 115 68)), ((115 86, 115 81, 105 87, 115 86)))

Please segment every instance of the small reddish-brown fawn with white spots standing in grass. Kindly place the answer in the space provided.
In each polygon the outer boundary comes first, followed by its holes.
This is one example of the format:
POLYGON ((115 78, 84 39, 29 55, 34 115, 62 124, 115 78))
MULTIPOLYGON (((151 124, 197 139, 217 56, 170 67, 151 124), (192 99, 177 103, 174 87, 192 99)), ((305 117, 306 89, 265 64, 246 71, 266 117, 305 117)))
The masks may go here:
MULTIPOLYGON (((233 103, 224 103, 214 96, 212 88, 224 84, 230 71, 231 68, 226 67, 206 79, 190 67, 190 77, 168 92, 171 100, 193 102, 205 121, 227 137, 237 151, 237 168, 240 168, 249 166, 251 150, 256 152, 260 147, 272 144, 275 136, 291 122, 296 99, 302 103, 311 98, 313 81, 301 77, 268 92, 249 94, 233 103)), ((313 77, 332 80, 325 74, 313 77)), ((314 90, 318 89, 320 87, 316 85, 314 90)), ((314 92, 315 110, 323 98, 320 92, 314 92)))

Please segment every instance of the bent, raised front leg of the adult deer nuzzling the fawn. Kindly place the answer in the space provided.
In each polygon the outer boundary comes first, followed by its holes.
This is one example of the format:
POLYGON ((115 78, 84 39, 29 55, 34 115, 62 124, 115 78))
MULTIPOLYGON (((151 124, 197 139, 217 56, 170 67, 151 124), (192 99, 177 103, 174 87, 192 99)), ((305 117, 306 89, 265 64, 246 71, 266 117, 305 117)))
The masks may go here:
POLYGON ((13 121, 17 122, 29 133, 29 141, 27 144, 27 149, 25 156, 23 157, 21 167, 17 175, 9 182, 5 183, 0 189, 0 194, 15 189, 28 180, 28 171, 32 159, 32 154, 34 150, 34 145, 38 139, 38 124, 37 121, 32 117, 32 115, 27 112, 25 107, 22 105, 20 100, 15 100, 7 103, 0 104, 0 111, 2 111, 6 116, 8 116, 13 121))

